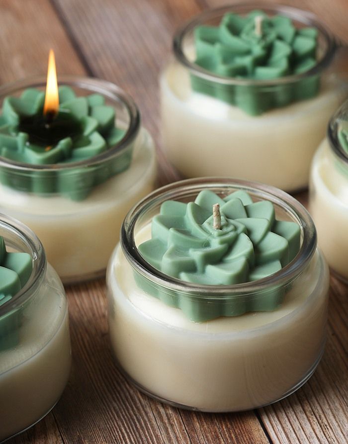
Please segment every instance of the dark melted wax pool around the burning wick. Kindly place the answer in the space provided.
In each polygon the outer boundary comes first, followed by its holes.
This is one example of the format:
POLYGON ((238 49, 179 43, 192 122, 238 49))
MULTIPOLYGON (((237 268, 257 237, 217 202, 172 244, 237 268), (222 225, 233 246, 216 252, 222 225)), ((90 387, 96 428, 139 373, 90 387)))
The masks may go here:
POLYGON ((83 132, 81 122, 70 111, 60 109, 58 113, 35 113, 22 116, 18 130, 29 135, 29 143, 43 148, 53 146, 66 137, 73 140, 83 132))

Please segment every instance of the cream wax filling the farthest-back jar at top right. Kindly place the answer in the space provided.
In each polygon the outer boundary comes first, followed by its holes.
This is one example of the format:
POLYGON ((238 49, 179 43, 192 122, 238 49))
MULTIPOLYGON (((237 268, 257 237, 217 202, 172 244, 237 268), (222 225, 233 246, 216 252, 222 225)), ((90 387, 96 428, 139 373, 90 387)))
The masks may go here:
POLYGON ((300 189, 308 185, 312 156, 343 96, 332 75, 317 97, 255 117, 192 91, 188 71, 173 62, 161 78, 164 149, 188 178, 244 178, 300 189))

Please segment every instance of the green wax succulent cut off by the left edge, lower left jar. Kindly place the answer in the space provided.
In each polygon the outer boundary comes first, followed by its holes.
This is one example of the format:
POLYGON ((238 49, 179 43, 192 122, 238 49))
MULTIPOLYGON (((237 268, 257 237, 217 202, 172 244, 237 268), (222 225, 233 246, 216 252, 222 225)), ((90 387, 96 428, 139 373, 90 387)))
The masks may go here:
MULTIPOLYGON (((0 236, 0 307, 12 299, 25 285, 32 271, 31 257, 27 253, 7 253, 0 236)), ((10 312, 0 318, 0 351, 18 342, 20 314, 10 312)))

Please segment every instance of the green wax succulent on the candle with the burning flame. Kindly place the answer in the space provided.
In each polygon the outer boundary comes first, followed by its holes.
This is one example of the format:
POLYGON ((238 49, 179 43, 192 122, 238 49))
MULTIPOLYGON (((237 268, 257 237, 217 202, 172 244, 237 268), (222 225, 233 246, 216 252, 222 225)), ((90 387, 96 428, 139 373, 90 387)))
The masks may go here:
MULTIPOLYGON (((25 89, 20 97, 7 96, 0 116, 0 156, 30 165, 50 166, 91 159, 115 146, 125 130, 115 127, 115 111, 100 94, 77 97, 68 86, 59 87, 58 113, 43 116, 45 93, 25 89)), ((14 173, 2 167, 3 184, 21 191, 47 195, 60 193, 74 200, 126 170, 132 147, 103 166, 68 170, 14 173)))

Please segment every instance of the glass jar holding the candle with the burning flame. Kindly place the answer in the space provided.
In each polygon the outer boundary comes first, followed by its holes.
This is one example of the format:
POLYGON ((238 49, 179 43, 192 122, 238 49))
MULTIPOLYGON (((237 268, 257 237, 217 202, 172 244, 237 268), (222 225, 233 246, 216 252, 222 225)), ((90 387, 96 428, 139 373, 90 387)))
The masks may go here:
MULTIPOLYGON (((125 214, 154 188, 156 161, 154 142, 124 91, 91 78, 62 76, 59 84, 77 96, 101 94, 125 134, 107 151, 80 162, 29 165, 0 157, 0 211, 37 234, 48 261, 69 283, 105 273, 125 214)), ((45 85, 46 79, 33 78, 3 86, 0 102, 45 85)))

